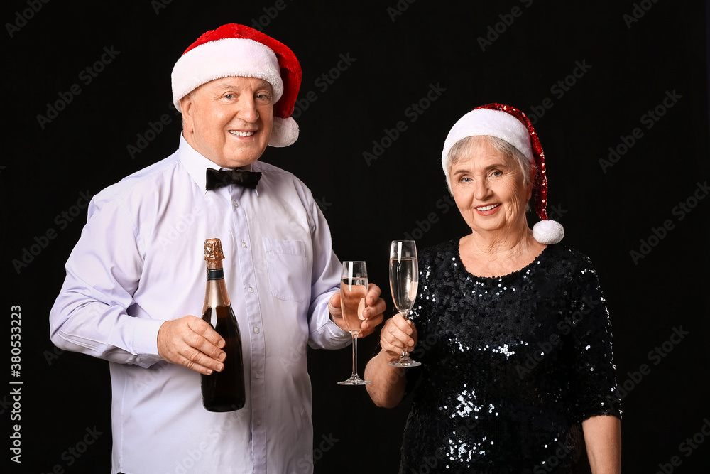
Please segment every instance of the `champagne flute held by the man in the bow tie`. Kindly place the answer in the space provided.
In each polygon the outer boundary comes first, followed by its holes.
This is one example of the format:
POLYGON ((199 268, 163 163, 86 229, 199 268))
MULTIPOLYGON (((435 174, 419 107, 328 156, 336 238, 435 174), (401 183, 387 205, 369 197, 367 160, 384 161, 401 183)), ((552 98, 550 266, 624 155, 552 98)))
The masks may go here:
POLYGON ((365 318, 367 296, 367 268, 365 262, 343 262, 340 274, 340 308, 343 311, 343 321, 353 336, 353 373, 349 379, 338 382, 339 385, 366 385, 372 382, 363 380, 357 375, 357 335, 360 333, 365 318))

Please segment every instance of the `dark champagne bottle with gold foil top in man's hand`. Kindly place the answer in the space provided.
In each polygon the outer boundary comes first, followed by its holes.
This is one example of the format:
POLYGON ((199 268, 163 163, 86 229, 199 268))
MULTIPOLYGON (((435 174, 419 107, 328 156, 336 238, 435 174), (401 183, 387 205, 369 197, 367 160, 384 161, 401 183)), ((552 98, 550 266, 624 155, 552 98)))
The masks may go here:
POLYGON ((224 370, 202 375, 202 404, 208 411, 234 411, 244 406, 244 360, 241 356, 241 335, 224 284, 222 242, 204 241, 207 262, 207 290, 204 293, 202 319, 224 338, 224 370))

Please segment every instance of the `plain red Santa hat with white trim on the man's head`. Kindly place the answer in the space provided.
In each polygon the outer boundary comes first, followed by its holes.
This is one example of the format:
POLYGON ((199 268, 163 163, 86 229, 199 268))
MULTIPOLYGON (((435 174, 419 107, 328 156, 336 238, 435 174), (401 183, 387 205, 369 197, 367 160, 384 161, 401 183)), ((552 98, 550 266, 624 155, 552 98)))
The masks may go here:
POLYGON ((283 43, 249 26, 229 23, 207 31, 182 53, 173 68, 173 104, 220 77, 256 77, 273 88, 271 146, 289 146, 298 138, 291 114, 301 85, 301 66, 283 43))

